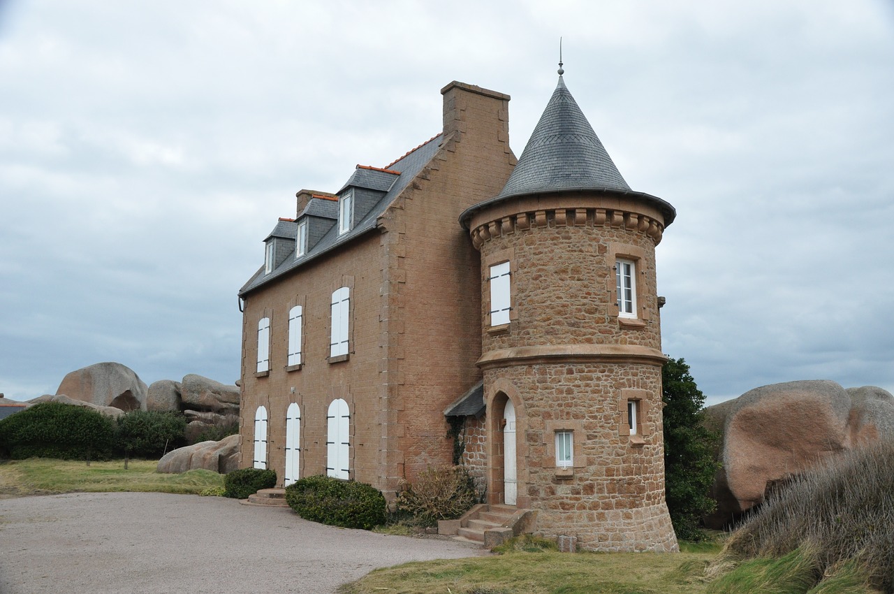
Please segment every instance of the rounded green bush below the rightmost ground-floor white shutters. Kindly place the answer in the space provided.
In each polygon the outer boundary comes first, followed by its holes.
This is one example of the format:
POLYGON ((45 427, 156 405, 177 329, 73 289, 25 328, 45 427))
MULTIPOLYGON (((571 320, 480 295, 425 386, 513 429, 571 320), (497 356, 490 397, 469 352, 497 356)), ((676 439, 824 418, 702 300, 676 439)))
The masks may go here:
POLYGON ((305 520, 330 526, 370 530, 385 520, 382 493, 356 480, 305 477, 285 488, 285 500, 305 520))

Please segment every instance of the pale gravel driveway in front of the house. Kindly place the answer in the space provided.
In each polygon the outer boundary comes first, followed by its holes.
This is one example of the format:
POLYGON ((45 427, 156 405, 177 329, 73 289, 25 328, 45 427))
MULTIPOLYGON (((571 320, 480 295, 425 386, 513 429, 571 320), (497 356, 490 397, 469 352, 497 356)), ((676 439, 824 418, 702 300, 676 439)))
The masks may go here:
POLYGON ((0 500, 0 592, 334 592, 376 567, 485 555, 223 497, 74 493, 0 500))

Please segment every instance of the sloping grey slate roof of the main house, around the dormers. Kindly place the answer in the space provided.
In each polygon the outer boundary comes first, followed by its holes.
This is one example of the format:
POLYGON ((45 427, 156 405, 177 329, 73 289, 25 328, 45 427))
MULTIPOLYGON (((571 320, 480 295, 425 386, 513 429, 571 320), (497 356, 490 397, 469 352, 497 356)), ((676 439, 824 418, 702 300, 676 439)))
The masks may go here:
MULTIPOLYGON (((319 258, 324 255, 326 252, 335 250, 339 246, 348 243, 354 239, 356 239, 359 235, 367 233, 375 229, 378 217, 384 213, 385 208, 401 195, 401 191, 404 190, 409 185, 409 182, 412 182, 413 179, 422 171, 422 168, 426 166, 426 164, 432 160, 434 157, 434 153, 437 152, 438 147, 441 145, 441 134, 435 136, 432 140, 428 140, 426 143, 420 145, 418 148, 410 151, 394 163, 389 165, 388 169, 390 171, 376 169, 371 167, 358 167, 351 174, 348 182, 342 186, 342 190, 347 188, 349 185, 361 185, 357 182, 362 182, 361 187, 368 188, 369 185, 365 185, 367 183, 377 183, 380 186, 384 184, 384 180, 391 180, 391 183, 385 188, 387 192, 378 202, 375 203, 375 206, 370 209, 367 213, 367 216, 364 216, 359 221, 356 221, 354 227, 348 233, 338 234, 338 225, 333 225, 332 229, 329 230, 323 236, 316 245, 308 251, 307 254, 302 256, 299 259, 295 259, 294 252, 290 257, 287 257, 283 260, 283 263, 276 267, 270 274, 264 274, 264 266, 262 265, 257 269, 257 272, 249 278, 249 282, 242 285, 242 288, 239 291, 240 297, 249 293, 257 287, 267 284, 273 281, 284 274, 291 272, 292 270, 297 270, 298 268, 305 266, 308 262, 319 258), (363 172, 363 173, 358 173, 363 172), (399 174, 397 174, 399 173, 399 174), (352 183, 351 180, 354 180, 352 183)), ((316 216, 327 216, 327 217, 338 217, 338 202, 334 200, 324 200, 319 199, 316 200, 320 203, 320 208, 335 208, 334 215, 316 215, 316 216), (325 205, 325 202, 331 202, 333 207, 325 205)), ((310 202, 315 202, 315 200, 311 199, 310 202)), ((310 208, 310 203, 308 203, 308 208, 310 208)), ((310 214, 307 212, 308 208, 305 208, 305 212, 302 214, 310 214)), ((316 208, 316 206, 314 207, 316 208)), ((327 211, 328 212, 328 211, 327 211)), ((292 223, 293 229, 294 223, 292 223)), ((277 225, 277 228, 279 225, 277 225)), ((275 231, 275 229, 274 229, 275 231)), ((293 230, 291 233, 291 239, 295 238, 295 231, 293 230)))

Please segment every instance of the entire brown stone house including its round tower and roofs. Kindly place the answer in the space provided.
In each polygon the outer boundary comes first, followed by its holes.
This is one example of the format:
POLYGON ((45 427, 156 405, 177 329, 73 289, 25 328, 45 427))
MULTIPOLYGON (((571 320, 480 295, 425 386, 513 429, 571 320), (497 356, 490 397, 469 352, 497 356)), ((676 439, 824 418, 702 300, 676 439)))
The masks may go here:
POLYGON ((654 248, 561 77, 521 157, 509 96, 451 82, 443 131, 299 191, 240 290, 241 466, 386 496, 460 462, 489 504, 599 550, 675 550, 654 248))

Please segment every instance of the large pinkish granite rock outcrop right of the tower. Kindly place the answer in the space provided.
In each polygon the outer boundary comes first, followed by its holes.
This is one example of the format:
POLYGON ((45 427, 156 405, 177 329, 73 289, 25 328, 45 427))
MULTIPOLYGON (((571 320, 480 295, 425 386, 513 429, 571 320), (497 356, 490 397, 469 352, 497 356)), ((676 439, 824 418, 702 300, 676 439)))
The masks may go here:
POLYGON ((705 424, 723 431, 713 486, 718 509, 705 519, 720 528, 816 462, 894 435, 894 396, 873 386, 786 382, 709 407, 705 424))

